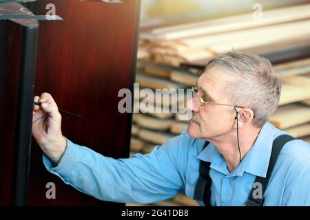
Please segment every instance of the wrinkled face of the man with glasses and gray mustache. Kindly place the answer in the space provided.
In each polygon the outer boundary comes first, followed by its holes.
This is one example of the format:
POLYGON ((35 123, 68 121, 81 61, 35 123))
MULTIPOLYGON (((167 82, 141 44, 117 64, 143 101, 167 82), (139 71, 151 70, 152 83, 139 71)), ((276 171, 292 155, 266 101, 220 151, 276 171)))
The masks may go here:
MULTIPOLYGON (((227 89, 227 83, 232 82, 234 77, 218 67, 211 67, 198 78, 196 87, 198 95, 204 101, 221 104, 231 104, 227 89)), ((187 102, 187 109, 192 110, 192 120, 189 121, 187 133, 194 138, 213 139, 223 137, 233 132, 236 112, 234 107, 219 104, 205 103, 202 106, 193 98, 187 102)))

